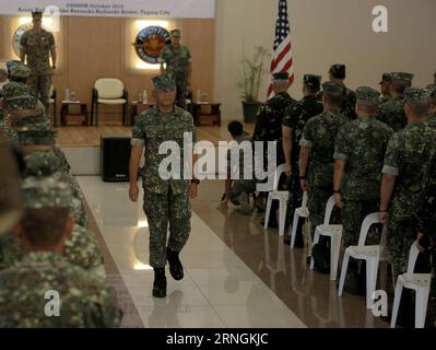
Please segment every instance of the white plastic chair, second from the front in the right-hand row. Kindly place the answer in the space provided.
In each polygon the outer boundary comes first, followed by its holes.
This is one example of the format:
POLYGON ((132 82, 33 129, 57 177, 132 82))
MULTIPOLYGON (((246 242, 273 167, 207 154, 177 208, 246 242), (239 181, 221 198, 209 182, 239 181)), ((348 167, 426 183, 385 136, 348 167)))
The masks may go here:
MULTIPOLYGON (((373 307, 373 294, 376 289, 378 261, 380 259, 380 245, 365 245, 366 236, 373 224, 380 223, 379 213, 375 212, 367 215, 361 226, 357 245, 351 245, 345 249, 342 261, 341 279, 338 295, 341 296, 345 282, 346 269, 349 268, 350 257, 366 261, 366 307, 373 307)), ((384 229, 386 230, 386 229, 384 229)))

